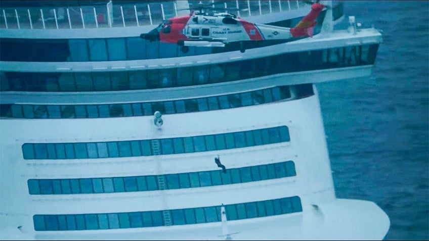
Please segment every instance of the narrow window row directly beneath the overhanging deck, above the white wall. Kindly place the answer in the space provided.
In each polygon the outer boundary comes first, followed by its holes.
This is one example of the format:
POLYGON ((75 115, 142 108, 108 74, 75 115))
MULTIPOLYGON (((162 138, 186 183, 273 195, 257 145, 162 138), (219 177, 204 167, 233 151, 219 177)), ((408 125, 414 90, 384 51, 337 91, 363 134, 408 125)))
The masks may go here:
MULTIPOLYGON (((291 87, 294 91, 294 99, 301 99, 314 94, 312 84, 299 84, 291 87)), ((289 86, 279 86, 250 92, 164 102, 105 105, 0 104, 0 117, 56 119, 152 116, 155 111, 159 111, 162 114, 176 114, 223 110, 272 103, 290 98, 289 86)))

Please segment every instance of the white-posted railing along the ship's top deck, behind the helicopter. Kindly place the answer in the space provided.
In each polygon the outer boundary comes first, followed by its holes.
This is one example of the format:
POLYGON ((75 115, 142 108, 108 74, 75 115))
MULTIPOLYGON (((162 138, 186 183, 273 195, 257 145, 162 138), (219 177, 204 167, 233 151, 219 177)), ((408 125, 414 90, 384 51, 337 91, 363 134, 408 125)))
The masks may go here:
MULTIPOLYGON (((200 1, 188 1, 196 5, 200 1)), ((201 1, 211 4, 215 1, 201 1)), ((303 1, 224 1, 239 17, 287 12, 308 7, 303 1)), ((180 9, 179 9, 180 10, 180 9)), ((3 29, 78 29, 157 25, 178 16, 176 1, 81 7, 0 8, 3 29)))

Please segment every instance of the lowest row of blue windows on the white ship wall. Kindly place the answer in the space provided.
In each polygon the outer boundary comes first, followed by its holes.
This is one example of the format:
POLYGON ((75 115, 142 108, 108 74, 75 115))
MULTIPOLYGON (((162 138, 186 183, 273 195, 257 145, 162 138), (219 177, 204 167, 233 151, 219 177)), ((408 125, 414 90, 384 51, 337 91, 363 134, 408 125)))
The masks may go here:
MULTIPOLYGON (((298 196, 225 205, 227 220, 302 212, 298 196)), ((36 231, 155 227, 220 222, 221 206, 128 213, 34 215, 36 231), (165 220, 164 217, 170 217, 165 220), (171 223, 169 223, 171 222, 171 223)))

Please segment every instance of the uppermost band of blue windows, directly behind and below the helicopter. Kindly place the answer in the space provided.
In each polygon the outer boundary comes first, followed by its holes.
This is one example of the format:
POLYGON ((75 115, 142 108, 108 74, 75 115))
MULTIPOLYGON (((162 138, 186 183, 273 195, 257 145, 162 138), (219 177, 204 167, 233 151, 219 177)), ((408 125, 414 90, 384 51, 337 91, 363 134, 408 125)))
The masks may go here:
MULTIPOLYGON (((302 17, 274 25, 290 27, 302 17), (286 26, 284 24, 287 24, 286 26)), ((317 30, 316 30, 317 32, 317 30)), ((139 36, 142 32, 136 32, 139 36)), ((277 41, 251 41, 247 49, 278 43, 277 41)), ((90 39, 22 39, 0 38, 0 61, 23 62, 87 62, 173 58, 239 50, 237 46, 189 47, 183 53, 173 43, 149 41, 140 37, 90 39)))

